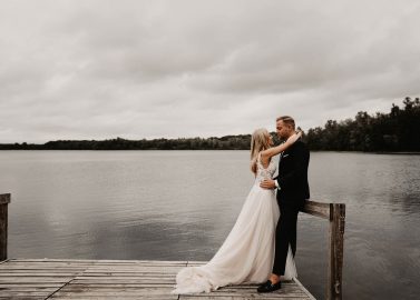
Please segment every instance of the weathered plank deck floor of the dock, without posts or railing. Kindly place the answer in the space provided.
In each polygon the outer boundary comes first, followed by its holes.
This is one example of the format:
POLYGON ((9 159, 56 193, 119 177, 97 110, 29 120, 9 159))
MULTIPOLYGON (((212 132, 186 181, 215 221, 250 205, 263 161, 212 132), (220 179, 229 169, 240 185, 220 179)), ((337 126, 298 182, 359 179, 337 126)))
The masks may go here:
POLYGON ((315 299, 297 281, 258 293, 257 284, 211 293, 172 294, 175 276, 204 261, 10 259, 0 262, 0 299, 315 299))

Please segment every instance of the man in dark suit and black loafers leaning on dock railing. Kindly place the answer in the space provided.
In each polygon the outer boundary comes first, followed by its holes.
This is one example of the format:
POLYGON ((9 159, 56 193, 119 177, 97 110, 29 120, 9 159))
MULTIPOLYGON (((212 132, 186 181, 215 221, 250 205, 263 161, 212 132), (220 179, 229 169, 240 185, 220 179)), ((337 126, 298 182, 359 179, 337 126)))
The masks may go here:
MULTIPOLYGON (((295 132, 293 118, 280 117, 276 120, 279 138, 286 140, 295 132)), ((257 288, 258 292, 271 292, 282 287, 280 277, 284 276, 289 244, 293 257, 296 253, 296 222, 299 210, 310 198, 307 183, 307 166, 310 152, 302 142, 297 140, 287 150, 281 153, 279 162, 279 177, 274 180, 264 180, 261 187, 264 189, 277 189, 277 203, 280 207, 280 219, 275 232, 275 257, 270 279, 257 288)))

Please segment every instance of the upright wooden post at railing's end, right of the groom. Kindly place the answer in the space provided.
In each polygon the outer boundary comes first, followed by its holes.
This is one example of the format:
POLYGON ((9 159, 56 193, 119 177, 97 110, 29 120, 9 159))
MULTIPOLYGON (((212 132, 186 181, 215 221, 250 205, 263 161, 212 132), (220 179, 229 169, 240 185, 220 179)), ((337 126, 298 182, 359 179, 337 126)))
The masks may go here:
POLYGON ((343 274, 345 204, 330 203, 330 247, 326 299, 341 300, 343 274))

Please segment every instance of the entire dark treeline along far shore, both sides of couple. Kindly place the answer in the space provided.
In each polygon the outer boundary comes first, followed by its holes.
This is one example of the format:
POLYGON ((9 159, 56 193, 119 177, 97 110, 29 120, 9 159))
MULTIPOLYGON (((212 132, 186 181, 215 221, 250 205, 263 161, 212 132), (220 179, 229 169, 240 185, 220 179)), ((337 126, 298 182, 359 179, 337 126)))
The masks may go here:
MULTIPOLYGON (((323 128, 303 137, 311 150, 420 151, 420 100, 407 97, 404 108, 392 104, 389 113, 370 116, 360 111, 354 119, 329 120, 323 128)), ((279 142, 276 134, 275 142, 279 142)), ((126 140, 58 140, 43 144, 0 143, 0 150, 248 150, 251 134, 222 138, 126 140)))

